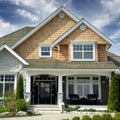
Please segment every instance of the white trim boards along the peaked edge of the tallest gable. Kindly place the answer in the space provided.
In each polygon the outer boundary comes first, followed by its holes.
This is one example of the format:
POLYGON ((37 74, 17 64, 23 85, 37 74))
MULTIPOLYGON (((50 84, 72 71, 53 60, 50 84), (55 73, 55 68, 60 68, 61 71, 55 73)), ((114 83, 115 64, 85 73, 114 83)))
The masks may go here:
POLYGON ((48 16, 45 20, 43 20, 39 25, 37 25, 30 33, 28 33, 22 39, 20 39, 18 42, 16 42, 11 48, 15 49, 18 45, 20 45, 22 42, 24 42, 26 39, 28 39, 30 36, 32 36, 35 32, 37 32, 40 28, 42 28, 50 20, 52 20, 61 11, 64 12, 66 15, 68 15, 70 18, 72 18, 75 22, 79 21, 79 18, 77 18, 70 11, 68 11, 66 8, 64 8, 63 6, 61 6, 55 12, 53 12, 50 16, 48 16))

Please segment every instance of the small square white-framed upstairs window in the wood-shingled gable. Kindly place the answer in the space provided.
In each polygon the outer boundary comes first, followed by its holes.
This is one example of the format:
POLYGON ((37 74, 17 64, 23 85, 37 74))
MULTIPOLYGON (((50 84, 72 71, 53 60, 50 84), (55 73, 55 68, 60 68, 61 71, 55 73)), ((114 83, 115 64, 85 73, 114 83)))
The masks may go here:
POLYGON ((40 57, 51 57, 52 48, 50 45, 41 45, 40 46, 40 57))

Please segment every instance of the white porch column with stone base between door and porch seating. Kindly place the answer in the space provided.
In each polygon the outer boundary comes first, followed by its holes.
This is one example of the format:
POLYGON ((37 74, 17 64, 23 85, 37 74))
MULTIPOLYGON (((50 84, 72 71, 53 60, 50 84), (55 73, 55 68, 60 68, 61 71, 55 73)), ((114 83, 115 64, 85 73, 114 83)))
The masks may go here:
POLYGON ((62 84, 62 75, 59 74, 58 76, 58 105, 62 110, 62 103, 63 103, 63 84, 62 84))

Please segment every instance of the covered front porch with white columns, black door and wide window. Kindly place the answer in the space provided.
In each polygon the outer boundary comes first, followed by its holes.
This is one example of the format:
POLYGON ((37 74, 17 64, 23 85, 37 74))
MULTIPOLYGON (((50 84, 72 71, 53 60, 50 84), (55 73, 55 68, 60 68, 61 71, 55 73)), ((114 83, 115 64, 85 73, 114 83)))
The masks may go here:
POLYGON ((33 70, 23 72, 25 79, 25 98, 30 105, 58 105, 73 104, 71 94, 77 94, 80 102, 78 105, 88 105, 88 94, 97 96, 97 103, 91 105, 106 105, 108 99, 111 71, 99 70, 33 70), (86 73, 86 74, 85 74, 86 73), (38 85, 39 90, 35 85, 38 85), (54 95, 52 93, 54 86, 54 95), (36 95, 34 93, 36 89, 36 95), (42 92, 41 92, 42 91, 42 92), (34 94, 33 94, 34 93, 34 94), (53 97, 54 96, 54 97, 53 97), (43 98, 43 99, 42 99, 43 98), (83 102, 81 102, 83 100, 83 102))

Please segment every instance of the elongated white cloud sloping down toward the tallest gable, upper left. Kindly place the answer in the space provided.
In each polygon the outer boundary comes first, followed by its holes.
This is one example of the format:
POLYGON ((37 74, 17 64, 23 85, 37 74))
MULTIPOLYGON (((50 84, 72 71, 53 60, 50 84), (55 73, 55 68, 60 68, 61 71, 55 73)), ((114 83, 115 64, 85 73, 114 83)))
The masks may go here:
POLYGON ((17 13, 24 18, 30 19, 32 22, 37 22, 39 20, 39 17, 37 15, 34 15, 23 9, 17 9, 17 13))

